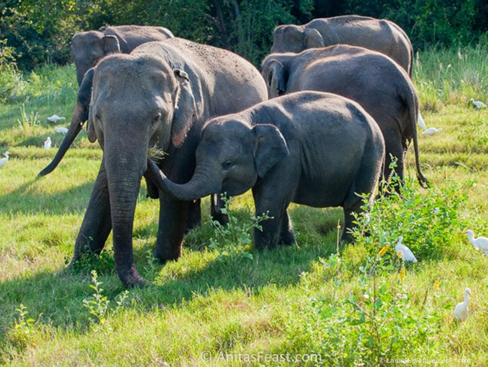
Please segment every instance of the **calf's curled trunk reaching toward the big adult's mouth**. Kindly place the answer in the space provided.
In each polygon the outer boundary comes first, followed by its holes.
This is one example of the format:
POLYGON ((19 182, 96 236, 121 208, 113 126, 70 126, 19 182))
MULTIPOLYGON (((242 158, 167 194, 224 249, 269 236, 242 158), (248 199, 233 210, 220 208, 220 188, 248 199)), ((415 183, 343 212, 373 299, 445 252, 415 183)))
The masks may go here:
POLYGON ((159 189, 170 197, 181 201, 191 201, 203 198, 212 193, 220 191, 220 183, 212 178, 211 172, 204 170, 202 167, 196 167, 195 173, 191 180, 185 184, 177 184, 168 179, 158 165, 153 161, 147 161, 147 173, 151 181, 159 189))

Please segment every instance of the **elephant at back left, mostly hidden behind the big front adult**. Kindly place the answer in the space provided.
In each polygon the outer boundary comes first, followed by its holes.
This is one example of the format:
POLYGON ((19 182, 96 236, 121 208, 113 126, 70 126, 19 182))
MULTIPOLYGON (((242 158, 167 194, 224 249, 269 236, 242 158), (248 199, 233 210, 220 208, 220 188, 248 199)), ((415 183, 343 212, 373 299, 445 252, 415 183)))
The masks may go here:
POLYGON ((103 27, 98 31, 76 33, 71 40, 71 54, 78 85, 81 85, 85 72, 105 55, 116 52, 129 54, 143 43, 173 37, 170 30, 152 26, 103 27))

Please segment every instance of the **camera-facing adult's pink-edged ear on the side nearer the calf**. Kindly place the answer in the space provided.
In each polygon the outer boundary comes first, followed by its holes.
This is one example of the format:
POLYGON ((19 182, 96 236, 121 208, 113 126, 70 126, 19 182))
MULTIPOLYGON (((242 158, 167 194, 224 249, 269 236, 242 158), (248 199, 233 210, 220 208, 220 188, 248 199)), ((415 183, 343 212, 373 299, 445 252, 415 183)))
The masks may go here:
POLYGON ((195 119, 195 98, 191 91, 190 78, 188 74, 180 69, 173 70, 176 80, 178 80, 179 91, 176 96, 173 123, 171 125, 171 142, 178 148, 193 124, 195 119))

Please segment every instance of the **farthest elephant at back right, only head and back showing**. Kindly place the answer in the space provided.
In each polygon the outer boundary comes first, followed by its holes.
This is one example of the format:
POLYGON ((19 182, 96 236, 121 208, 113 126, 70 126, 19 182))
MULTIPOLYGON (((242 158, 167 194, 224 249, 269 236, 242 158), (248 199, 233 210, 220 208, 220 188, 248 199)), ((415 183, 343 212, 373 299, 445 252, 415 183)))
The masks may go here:
POLYGON ((413 47, 405 31, 394 22, 359 15, 317 18, 302 26, 278 26, 271 53, 299 53, 343 43, 381 52, 412 76, 413 47))

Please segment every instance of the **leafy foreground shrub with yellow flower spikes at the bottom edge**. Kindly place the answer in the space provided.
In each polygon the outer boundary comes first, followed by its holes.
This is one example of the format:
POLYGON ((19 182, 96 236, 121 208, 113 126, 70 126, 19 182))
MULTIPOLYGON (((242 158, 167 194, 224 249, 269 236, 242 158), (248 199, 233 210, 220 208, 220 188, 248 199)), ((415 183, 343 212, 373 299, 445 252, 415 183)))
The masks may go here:
MULTIPOLYGON (((328 266, 336 266, 335 256, 328 266)), ((401 263, 390 274, 392 267, 382 261, 376 256, 361 266, 359 289, 345 287, 338 272, 333 295, 312 298, 295 319, 301 325, 297 333, 309 343, 310 352, 321 355, 324 365, 378 365, 382 359, 410 353, 437 353, 433 336, 441 316, 412 303, 402 285, 401 263)), ((302 278, 306 281, 306 276, 302 278)))

